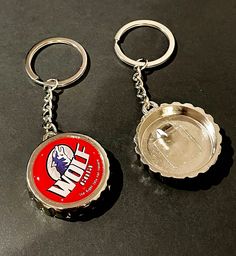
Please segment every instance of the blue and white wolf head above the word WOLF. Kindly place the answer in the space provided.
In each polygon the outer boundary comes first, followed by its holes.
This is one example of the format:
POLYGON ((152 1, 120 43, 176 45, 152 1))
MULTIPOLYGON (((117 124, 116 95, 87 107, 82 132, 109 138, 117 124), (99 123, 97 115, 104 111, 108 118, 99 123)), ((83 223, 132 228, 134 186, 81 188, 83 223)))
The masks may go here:
POLYGON ((67 168, 69 167, 71 159, 65 152, 63 146, 55 146, 52 152, 52 165, 51 167, 56 167, 57 171, 62 176, 67 168))

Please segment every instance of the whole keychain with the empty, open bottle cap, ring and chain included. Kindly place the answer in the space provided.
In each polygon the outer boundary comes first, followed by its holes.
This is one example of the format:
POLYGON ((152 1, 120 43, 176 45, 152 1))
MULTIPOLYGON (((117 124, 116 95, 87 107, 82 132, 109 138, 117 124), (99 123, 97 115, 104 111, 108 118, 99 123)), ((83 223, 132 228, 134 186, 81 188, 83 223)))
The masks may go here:
POLYGON ((173 102, 161 104, 150 101, 142 80, 142 71, 167 61, 174 51, 175 39, 164 25, 152 20, 137 20, 123 26, 115 35, 115 52, 120 60, 134 67, 133 80, 137 97, 143 104, 141 119, 134 138, 141 161, 155 173, 177 179, 193 178, 206 172, 221 152, 220 128, 212 116, 192 104, 173 102), (169 41, 166 53, 159 59, 137 61, 127 57, 119 41, 124 33, 135 27, 153 27, 169 41))

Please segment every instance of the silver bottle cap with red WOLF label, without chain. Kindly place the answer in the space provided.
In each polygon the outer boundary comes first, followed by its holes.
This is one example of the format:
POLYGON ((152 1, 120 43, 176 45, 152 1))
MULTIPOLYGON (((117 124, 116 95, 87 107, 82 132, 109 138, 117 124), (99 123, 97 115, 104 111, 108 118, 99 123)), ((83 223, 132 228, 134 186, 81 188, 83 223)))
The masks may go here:
POLYGON ((27 185, 40 209, 70 219, 100 197, 109 175, 109 161, 98 142, 82 134, 62 133, 34 150, 27 185))

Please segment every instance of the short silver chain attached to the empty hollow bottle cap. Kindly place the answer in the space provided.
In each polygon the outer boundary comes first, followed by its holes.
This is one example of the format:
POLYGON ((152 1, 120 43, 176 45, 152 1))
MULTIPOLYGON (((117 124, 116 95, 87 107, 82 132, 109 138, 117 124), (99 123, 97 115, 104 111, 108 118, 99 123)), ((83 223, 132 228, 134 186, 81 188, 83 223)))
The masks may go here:
POLYGON ((133 75, 133 81, 135 82, 135 88, 137 89, 137 97, 141 100, 141 103, 143 104, 142 112, 143 114, 146 114, 152 107, 157 107, 158 105, 155 102, 150 101, 149 97, 147 96, 147 91, 144 88, 142 70, 147 67, 148 60, 141 58, 137 61, 145 61, 145 64, 143 66, 134 66, 135 73, 133 75))

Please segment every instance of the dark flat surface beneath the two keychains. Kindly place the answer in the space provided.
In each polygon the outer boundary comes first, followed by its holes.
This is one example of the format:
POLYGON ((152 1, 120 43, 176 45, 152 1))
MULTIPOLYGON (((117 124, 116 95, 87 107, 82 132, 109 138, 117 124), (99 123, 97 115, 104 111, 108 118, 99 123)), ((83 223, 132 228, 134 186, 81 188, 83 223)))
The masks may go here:
MULTIPOLYGON (((0 4, 0 255, 235 255, 235 1, 0 4), (224 130, 221 162, 187 184, 152 177, 134 153, 141 106, 133 71, 118 61, 113 38, 122 25, 143 18, 167 25, 178 43, 169 65, 147 76, 152 100, 201 106, 224 130), (26 190, 26 165, 43 134, 44 94, 27 79, 23 60, 33 44, 51 36, 80 42, 91 60, 85 79, 59 96, 59 128, 101 142, 123 173, 118 170, 110 205, 88 221, 45 216, 26 190)), ((166 46, 158 31, 137 29, 123 48, 133 58, 154 59, 166 46)), ((65 78, 79 65, 74 53, 61 45, 47 48, 35 68, 43 78, 65 78)))

